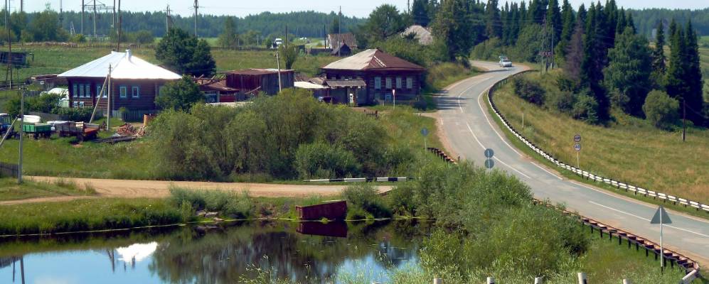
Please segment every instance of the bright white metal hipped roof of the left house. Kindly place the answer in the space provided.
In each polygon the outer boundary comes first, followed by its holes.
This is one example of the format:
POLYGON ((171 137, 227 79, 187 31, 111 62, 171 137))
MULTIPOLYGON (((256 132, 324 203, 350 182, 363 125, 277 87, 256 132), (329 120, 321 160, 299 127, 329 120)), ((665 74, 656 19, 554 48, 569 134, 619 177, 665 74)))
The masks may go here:
POLYGON ((111 52, 97 60, 81 65, 57 77, 92 77, 105 78, 111 67, 111 78, 133 80, 178 80, 180 75, 153 65, 132 55, 130 50, 125 53, 111 52))

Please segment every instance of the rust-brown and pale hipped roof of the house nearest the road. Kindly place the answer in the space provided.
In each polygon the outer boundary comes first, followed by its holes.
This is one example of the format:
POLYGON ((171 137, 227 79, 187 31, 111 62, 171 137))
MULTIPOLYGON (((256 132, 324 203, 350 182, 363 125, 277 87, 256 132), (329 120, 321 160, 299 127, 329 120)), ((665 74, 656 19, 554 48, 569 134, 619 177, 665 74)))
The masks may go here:
POLYGON ((398 70, 424 71, 425 68, 378 49, 368 49, 330 63, 323 70, 398 70))

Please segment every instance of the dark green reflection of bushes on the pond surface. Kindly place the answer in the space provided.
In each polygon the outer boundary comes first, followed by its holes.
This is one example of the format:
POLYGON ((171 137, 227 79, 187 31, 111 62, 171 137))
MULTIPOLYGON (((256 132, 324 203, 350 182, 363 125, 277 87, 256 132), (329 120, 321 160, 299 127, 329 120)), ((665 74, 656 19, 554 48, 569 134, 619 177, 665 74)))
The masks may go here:
POLYGON ((252 273, 250 265, 278 278, 317 281, 332 278, 346 259, 377 251, 387 256, 375 257, 382 266, 398 266, 415 256, 415 235, 401 236, 396 226, 380 222, 350 226, 346 239, 297 234, 279 223, 251 224, 203 236, 178 234, 160 244, 150 269, 171 283, 235 283, 252 273))

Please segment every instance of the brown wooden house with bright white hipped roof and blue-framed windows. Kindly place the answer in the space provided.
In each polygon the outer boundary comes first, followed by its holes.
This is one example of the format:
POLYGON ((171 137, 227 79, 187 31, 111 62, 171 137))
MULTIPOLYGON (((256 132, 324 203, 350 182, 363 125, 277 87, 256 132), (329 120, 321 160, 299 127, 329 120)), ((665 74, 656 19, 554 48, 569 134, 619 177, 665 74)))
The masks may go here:
POLYGON ((85 65, 58 75, 69 84, 69 107, 94 107, 107 112, 108 91, 101 94, 102 86, 110 72, 110 99, 112 116, 125 108, 134 113, 151 114, 157 109, 155 96, 166 82, 179 80, 177 75, 157 65, 137 58, 131 50, 112 52, 85 65))

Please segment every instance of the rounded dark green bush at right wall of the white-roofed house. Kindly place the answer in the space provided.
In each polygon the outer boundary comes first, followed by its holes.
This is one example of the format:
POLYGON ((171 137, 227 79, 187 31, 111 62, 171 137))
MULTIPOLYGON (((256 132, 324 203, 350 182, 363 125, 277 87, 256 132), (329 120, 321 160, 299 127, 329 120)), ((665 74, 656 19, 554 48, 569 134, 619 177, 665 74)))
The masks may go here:
POLYGON ((183 76, 181 80, 168 82, 155 97, 156 106, 161 109, 189 111, 195 104, 204 101, 199 86, 190 77, 183 76))

